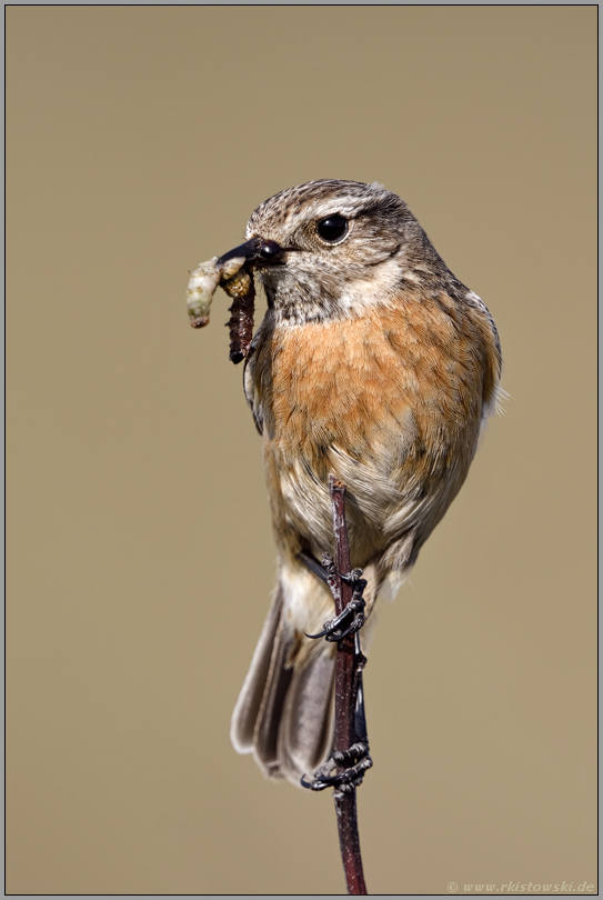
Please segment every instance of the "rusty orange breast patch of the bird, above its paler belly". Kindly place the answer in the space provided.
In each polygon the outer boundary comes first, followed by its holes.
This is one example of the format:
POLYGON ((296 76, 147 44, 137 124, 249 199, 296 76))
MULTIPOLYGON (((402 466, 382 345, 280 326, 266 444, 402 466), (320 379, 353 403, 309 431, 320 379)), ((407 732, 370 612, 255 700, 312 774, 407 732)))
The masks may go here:
MULTIPOLYGON (((274 333, 264 417, 283 449, 313 456, 335 441, 370 452, 411 410, 421 437, 481 416, 486 348, 480 332, 439 304, 409 304, 274 333), (268 401, 268 403, 267 403, 268 401)), ((265 351, 264 351, 265 352, 265 351)), ((270 366, 268 360, 267 363, 270 366)))

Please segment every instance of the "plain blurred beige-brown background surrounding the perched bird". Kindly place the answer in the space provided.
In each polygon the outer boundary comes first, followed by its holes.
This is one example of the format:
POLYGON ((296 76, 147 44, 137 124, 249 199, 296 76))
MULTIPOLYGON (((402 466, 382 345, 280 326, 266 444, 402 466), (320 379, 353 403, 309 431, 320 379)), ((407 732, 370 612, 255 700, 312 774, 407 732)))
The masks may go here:
POLYGON ((512 399, 382 612, 373 893, 595 881, 594 7, 8 10, 8 890, 341 893, 229 719, 273 581, 227 301, 312 178, 400 193, 512 399))

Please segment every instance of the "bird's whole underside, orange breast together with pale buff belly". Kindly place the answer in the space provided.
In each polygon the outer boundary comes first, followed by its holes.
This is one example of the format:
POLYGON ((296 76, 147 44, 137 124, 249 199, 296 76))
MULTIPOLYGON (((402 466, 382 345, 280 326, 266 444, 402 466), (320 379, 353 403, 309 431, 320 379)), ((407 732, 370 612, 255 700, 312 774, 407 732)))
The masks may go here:
POLYGON ((254 344, 245 393, 279 543, 331 546, 330 472, 349 488, 354 564, 433 520, 431 531, 496 390, 498 340, 479 298, 402 293, 362 316, 300 326, 269 313, 254 344))

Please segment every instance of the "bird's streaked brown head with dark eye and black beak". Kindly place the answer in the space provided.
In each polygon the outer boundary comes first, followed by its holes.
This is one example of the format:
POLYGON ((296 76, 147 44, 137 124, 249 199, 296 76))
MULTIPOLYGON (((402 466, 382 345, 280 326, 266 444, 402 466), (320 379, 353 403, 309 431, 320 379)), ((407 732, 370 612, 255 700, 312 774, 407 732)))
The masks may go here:
POLYGON ((429 266, 425 242, 431 248, 396 194, 378 183, 331 179, 264 200, 245 237, 220 261, 245 257, 269 307, 297 324, 362 314, 368 306, 388 302, 415 258, 429 266))

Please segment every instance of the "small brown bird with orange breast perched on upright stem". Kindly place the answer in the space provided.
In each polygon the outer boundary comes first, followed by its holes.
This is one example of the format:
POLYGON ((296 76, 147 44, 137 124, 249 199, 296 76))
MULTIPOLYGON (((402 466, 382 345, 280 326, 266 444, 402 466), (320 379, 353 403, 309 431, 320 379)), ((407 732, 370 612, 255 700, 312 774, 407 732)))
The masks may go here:
POLYGON ((484 302, 378 182, 280 191, 221 261, 241 257, 268 303, 243 384, 278 563, 230 734, 264 776, 299 786, 333 741, 336 647, 309 637, 334 614, 308 566, 335 551, 329 479, 345 486, 351 563, 366 581, 365 654, 378 603, 409 576, 499 408, 501 346, 484 302))

